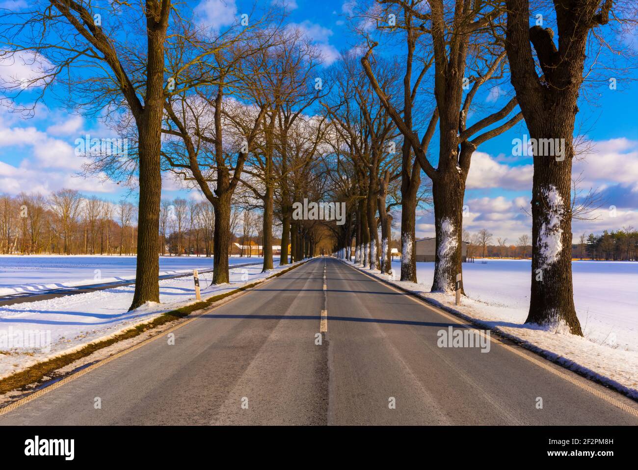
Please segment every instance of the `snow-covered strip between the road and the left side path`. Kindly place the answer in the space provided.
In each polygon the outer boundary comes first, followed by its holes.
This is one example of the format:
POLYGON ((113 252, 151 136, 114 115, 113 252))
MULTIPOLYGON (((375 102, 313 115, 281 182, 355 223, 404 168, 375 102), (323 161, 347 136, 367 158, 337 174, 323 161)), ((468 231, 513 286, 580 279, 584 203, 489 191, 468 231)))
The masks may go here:
MULTIPOLYGON (((59 262, 59 259, 54 261, 59 262)), ((64 263, 68 263, 64 264, 68 269, 65 271, 67 275, 82 272, 82 269, 78 268, 82 261, 82 259, 76 261, 64 259, 64 263)), ((105 266, 100 261, 95 261, 96 264, 93 266, 105 266)), ((232 258, 231 263, 241 264, 251 261, 258 262, 260 259, 257 257, 232 258)), ((107 262, 110 262, 110 259, 107 259, 107 262)), ((190 266, 202 268, 210 266, 211 259, 184 258, 180 260, 178 258, 176 261, 163 259, 162 262, 169 263, 168 266, 164 264, 165 269, 167 267, 179 269, 186 266, 192 269, 190 266)), ((48 262, 46 264, 48 265, 48 262)), ((43 266, 36 264, 33 266, 36 268, 34 272, 43 272, 41 269, 43 266)), ((212 273, 204 274, 200 277, 202 298, 263 280, 285 268, 288 266, 275 268, 268 273, 262 273, 262 266, 259 264, 230 269, 230 284, 216 285, 212 288, 208 287, 212 273)), ((56 268, 47 266, 45 269, 47 275, 52 275, 50 269, 56 268)), ((160 281, 159 301, 161 303, 147 303, 136 310, 127 312, 133 299, 134 287, 134 285, 127 285, 87 294, 0 307, 0 378, 47 358, 80 349, 89 342, 112 337, 135 324, 151 321, 168 310, 195 302, 193 277, 189 276, 160 281)))

